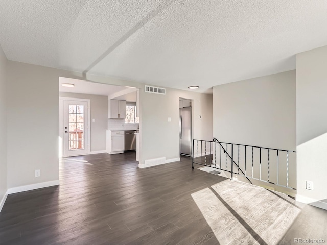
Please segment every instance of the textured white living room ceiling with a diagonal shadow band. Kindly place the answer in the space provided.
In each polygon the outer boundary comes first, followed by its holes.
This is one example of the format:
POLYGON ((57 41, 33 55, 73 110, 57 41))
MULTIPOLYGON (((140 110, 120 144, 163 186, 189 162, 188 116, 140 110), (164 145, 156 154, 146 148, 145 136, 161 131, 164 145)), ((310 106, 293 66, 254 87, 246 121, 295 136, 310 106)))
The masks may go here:
POLYGON ((187 89, 295 69, 325 0, 0 1, 8 59, 187 89))

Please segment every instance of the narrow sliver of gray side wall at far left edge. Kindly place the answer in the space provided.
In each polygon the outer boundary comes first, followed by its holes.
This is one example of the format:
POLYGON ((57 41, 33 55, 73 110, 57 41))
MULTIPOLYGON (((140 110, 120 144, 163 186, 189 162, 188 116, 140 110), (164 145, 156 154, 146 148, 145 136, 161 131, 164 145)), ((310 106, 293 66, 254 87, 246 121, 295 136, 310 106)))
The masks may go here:
MULTIPOLYGON (((0 204, 7 191, 7 58, 0 46, 0 204)), ((1 208, 0 208, 1 209, 1 208)))

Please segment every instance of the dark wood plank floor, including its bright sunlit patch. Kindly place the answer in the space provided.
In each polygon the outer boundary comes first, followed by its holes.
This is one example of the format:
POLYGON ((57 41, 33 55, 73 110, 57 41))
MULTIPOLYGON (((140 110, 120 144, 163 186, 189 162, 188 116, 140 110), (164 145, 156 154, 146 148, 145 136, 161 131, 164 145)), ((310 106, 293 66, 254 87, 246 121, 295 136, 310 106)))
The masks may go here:
POLYGON ((327 211, 198 169, 139 169, 135 153, 64 158, 60 186, 8 196, 0 244, 292 244, 327 211))

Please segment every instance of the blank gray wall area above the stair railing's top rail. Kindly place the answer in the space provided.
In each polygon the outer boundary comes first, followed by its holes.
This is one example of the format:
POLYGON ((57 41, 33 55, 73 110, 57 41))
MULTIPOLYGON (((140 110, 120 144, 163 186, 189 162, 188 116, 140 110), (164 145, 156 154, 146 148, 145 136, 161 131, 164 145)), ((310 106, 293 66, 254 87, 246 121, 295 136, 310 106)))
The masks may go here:
POLYGON ((215 86, 214 136, 220 142, 295 151, 295 70, 215 86))

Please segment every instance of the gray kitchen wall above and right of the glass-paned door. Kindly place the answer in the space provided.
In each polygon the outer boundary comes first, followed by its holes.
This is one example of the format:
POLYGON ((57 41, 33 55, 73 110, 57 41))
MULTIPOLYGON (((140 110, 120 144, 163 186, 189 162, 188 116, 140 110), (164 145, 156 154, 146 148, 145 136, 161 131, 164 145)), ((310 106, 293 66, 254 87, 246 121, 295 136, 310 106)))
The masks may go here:
POLYGON ((59 92, 59 96, 91 100, 91 151, 106 150, 108 96, 66 92, 59 92), (92 119, 96 119, 95 122, 92 119))

